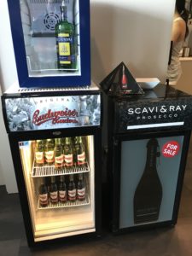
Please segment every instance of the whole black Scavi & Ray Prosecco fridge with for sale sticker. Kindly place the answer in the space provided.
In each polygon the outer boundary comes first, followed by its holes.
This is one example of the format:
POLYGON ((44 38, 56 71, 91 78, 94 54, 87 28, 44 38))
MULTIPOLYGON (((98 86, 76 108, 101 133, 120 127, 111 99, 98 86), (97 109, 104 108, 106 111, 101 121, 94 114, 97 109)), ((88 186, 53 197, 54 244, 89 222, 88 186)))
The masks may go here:
POLYGON ((159 84, 142 95, 116 96, 109 91, 107 101, 111 230, 176 224, 192 96, 159 84))

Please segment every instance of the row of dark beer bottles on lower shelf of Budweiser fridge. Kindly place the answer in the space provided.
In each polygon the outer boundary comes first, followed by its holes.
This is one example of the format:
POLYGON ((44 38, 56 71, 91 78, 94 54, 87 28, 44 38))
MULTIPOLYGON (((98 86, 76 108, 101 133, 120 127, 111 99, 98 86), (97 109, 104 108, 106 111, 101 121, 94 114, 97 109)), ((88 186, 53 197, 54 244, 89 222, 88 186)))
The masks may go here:
POLYGON ((50 177, 50 182, 45 177, 42 178, 39 187, 39 203, 41 207, 47 207, 49 201, 56 204, 59 201, 65 203, 67 201, 84 201, 85 199, 85 182, 83 173, 69 175, 68 181, 64 176, 60 176, 56 181, 55 176, 50 177))

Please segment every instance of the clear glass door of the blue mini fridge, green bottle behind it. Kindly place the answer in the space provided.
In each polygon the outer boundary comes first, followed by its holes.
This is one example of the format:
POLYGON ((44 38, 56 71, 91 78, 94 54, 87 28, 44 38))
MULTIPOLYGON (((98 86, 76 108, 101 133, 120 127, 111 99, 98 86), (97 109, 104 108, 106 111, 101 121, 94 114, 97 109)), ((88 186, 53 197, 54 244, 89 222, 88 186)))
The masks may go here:
POLYGON ((22 0, 20 16, 29 77, 81 75, 79 0, 22 0))

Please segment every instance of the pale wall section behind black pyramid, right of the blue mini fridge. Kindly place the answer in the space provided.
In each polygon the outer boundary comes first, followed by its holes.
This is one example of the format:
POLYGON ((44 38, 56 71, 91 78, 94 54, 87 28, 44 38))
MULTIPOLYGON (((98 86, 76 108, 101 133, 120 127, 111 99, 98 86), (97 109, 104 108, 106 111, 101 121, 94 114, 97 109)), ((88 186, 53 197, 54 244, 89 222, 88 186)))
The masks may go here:
POLYGON ((165 82, 175 0, 90 0, 92 79, 124 61, 137 77, 165 82))

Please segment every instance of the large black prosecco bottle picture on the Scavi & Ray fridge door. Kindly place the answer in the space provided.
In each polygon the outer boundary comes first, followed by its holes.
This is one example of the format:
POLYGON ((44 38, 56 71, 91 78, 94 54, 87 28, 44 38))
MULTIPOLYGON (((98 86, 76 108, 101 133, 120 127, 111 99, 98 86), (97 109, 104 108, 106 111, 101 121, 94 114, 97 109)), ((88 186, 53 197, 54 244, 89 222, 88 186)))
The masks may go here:
POLYGON ((159 144, 155 138, 147 144, 147 160, 134 195, 134 223, 142 224, 157 221, 162 200, 162 185, 156 169, 160 157, 159 144))

